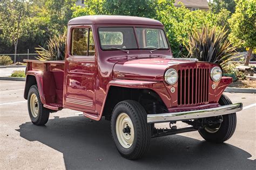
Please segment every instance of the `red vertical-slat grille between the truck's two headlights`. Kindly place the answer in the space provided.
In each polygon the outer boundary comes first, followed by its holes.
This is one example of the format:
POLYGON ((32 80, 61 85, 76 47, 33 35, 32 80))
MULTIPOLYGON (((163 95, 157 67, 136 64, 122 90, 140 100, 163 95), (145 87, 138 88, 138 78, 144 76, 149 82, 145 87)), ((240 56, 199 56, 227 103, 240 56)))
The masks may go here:
POLYGON ((178 105, 208 103, 208 68, 178 70, 178 105))

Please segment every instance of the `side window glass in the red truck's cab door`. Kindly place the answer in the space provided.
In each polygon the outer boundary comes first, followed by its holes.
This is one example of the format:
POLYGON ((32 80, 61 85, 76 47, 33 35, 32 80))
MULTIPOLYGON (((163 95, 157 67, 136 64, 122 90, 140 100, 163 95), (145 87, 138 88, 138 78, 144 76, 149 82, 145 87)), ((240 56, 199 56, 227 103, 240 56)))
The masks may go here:
POLYGON ((71 55, 95 55, 95 43, 91 29, 75 28, 72 30, 71 55))

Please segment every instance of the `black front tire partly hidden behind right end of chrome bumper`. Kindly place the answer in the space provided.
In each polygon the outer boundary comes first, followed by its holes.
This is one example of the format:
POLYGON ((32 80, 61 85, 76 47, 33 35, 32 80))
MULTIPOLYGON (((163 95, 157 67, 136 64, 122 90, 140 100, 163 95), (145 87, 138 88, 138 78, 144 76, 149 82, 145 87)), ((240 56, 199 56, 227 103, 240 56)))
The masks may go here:
MULTIPOLYGON (((221 95, 219 100, 220 105, 232 104, 230 99, 226 95, 221 95)), ((224 141, 230 139, 237 126, 237 116, 235 113, 223 115, 223 122, 217 132, 210 133, 205 129, 199 130, 200 135, 206 140, 213 143, 223 143, 224 141)))

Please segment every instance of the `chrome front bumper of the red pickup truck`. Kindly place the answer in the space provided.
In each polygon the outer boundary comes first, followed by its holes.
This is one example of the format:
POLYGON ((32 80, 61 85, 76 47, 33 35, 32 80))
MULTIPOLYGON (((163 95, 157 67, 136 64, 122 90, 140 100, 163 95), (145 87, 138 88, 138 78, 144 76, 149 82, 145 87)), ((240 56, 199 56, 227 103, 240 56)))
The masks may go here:
POLYGON ((147 123, 185 121, 188 119, 198 119, 198 118, 204 118, 204 117, 227 115, 227 114, 232 114, 241 110, 242 110, 242 103, 235 103, 230 105, 221 105, 218 108, 173 112, 173 113, 167 113, 167 114, 153 114, 153 115, 147 115, 147 123))

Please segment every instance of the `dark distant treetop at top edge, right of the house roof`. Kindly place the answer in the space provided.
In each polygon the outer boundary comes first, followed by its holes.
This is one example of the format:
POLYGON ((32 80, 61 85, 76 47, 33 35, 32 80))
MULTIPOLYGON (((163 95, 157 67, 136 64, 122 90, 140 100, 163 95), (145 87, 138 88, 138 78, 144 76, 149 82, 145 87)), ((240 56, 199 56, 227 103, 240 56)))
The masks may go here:
POLYGON ((235 0, 213 0, 209 3, 211 11, 219 13, 221 9, 226 9, 231 13, 235 11, 235 0))

